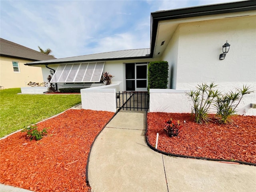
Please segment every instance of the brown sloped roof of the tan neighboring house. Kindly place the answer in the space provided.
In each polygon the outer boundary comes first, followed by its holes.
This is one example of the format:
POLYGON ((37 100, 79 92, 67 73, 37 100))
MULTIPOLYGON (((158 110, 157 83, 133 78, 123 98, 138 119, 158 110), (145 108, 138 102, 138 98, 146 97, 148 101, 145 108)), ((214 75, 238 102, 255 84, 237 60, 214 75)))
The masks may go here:
POLYGON ((0 38, 0 55, 32 61, 55 59, 55 57, 43 54, 3 38, 0 38))

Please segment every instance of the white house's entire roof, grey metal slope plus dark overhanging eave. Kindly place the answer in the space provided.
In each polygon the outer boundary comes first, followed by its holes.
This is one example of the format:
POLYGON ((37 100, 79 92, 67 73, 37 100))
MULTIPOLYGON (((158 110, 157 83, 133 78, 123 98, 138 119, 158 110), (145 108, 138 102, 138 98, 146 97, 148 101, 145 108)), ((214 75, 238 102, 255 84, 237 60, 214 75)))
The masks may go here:
POLYGON ((56 60, 31 62, 25 65, 41 65, 41 64, 63 64, 63 63, 76 63, 76 62, 97 62, 108 60, 124 60, 124 59, 142 59, 153 58, 154 49, 156 45, 156 33, 158 29, 158 22, 164 20, 172 20, 179 18, 189 18, 196 16, 207 16, 214 14, 225 14, 230 12, 242 12, 256 9, 256 1, 242 1, 242 2, 229 2, 223 4, 213 4, 206 6, 196 6, 189 8, 180 8, 175 10, 163 10, 151 13, 151 37, 150 48, 122 50, 105 52, 98 54, 90 54, 84 56, 76 56, 69 58, 60 58, 56 60))

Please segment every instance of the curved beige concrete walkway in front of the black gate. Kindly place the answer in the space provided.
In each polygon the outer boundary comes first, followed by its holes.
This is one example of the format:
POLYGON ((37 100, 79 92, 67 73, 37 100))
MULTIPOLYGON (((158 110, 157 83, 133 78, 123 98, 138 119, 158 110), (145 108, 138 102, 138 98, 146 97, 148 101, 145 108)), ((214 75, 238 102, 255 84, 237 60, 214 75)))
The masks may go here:
POLYGON ((165 156, 145 142, 146 112, 120 111, 90 154, 92 192, 255 192, 256 167, 165 156))

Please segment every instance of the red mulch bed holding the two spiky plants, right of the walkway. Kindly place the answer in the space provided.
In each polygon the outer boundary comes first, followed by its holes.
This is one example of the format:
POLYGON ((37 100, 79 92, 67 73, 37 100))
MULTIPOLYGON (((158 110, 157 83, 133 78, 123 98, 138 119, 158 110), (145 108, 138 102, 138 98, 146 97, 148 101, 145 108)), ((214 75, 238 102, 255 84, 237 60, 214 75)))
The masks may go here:
POLYGON ((256 117, 235 115, 232 120, 233 124, 196 124, 188 113, 148 113, 148 141, 155 146, 159 133, 158 150, 163 152, 256 164, 256 117), (172 138, 163 130, 170 118, 183 126, 172 138))

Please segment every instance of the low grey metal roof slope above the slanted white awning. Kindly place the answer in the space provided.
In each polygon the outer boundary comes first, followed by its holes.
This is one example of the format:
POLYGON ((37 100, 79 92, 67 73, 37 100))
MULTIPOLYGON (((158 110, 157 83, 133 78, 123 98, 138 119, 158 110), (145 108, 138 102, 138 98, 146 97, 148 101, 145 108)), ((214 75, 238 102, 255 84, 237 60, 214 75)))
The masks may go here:
POLYGON ((132 49, 112 51, 105 53, 97 53, 83 56, 67 57, 47 61, 30 62, 25 65, 37 65, 37 64, 61 64, 70 62, 93 62, 93 61, 107 61, 107 60, 123 60, 133 58, 148 58, 150 54, 150 48, 146 49, 132 49))

